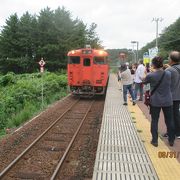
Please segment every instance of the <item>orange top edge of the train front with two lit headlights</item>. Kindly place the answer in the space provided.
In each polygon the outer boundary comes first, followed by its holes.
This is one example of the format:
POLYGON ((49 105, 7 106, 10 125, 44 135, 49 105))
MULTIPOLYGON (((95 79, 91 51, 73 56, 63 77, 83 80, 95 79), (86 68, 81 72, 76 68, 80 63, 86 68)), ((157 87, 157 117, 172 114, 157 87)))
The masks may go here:
POLYGON ((82 48, 77 50, 71 50, 68 52, 67 55, 68 56, 82 56, 82 55, 108 56, 108 53, 103 49, 82 48))

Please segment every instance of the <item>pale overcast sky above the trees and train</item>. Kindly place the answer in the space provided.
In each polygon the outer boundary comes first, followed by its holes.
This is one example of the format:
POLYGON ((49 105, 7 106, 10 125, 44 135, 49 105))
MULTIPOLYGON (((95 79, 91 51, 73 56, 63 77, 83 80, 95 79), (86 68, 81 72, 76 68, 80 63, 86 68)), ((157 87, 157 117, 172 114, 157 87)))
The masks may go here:
POLYGON ((131 41, 138 41, 141 48, 156 37, 154 17, 163 18, 159 33, 180 17, 180 0, 1 0, 0 26, 14 13, 38 14, 47 6, 52 10, 64 6, 74 19, 96 23, 106 49, 132 48, 131 41))

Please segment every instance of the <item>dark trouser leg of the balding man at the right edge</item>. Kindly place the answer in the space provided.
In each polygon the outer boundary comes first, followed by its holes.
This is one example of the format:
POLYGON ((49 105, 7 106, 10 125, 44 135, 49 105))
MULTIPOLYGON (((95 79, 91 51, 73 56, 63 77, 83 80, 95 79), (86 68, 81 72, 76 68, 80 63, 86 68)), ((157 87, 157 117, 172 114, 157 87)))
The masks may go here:
POLYGON ((180 138, 180 112, 179 112, 180 101, 173 101, 173 119, 175 135, 180 138))

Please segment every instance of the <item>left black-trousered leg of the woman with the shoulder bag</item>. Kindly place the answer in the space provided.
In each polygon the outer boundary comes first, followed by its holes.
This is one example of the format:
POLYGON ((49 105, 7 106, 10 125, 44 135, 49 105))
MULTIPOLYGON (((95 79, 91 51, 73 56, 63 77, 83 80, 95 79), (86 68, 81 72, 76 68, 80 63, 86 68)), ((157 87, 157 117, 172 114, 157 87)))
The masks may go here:
POLYGON ((151 111, 151 134, 152 134, 152 142, 158 143, 158 121, 159 121, 159 113, 160 107, 150 107, 151 111))

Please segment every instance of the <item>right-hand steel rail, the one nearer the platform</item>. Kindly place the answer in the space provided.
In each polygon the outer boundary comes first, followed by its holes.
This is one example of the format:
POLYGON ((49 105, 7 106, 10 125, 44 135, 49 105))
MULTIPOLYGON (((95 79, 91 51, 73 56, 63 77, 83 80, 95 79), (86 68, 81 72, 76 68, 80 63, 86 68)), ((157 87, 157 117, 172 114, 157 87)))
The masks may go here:
POLYGON ((60 170, 60 168, 61 168, 61 166, 62 166, 62 164, 63 164, 63 162, 64 162, 64 160, 65 160, 65 158, 66 158, 66 156, 67 156, 67 154, 68 154, 72 144, 73 144, 73 142, 75 141, 75 138, 77 137, 77 135, 78 135, 78 133, 79 133, 79 131, 80 131, 80 129, 81 129, 81 127, 82 127, 82 125, 83 125, 83 123, 84 123, 88 113, 89 113, 89 111, 91 110, 91 107, 92 107, 94 102, 95 102, 95 100, 91 103, 91 105, 89 106, 88 110, 86 111, 86 114, 84 115, 83 119, 81 120, 81 123, 80 123, 78 129, 76 130, 74 136, 72 137, 72 139, 71 139, 68 147, 66 148, 66 151, 64 152, 61 160, 59 161, 58 165, 56 166, 56 169, 55 169, 53 175, 51 176, 50 180, 54 180, 56 178, 56 176, 57 176, 57 174, 58 174, 58 172, 59 172, 59 170, 60 170))

